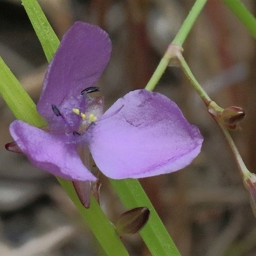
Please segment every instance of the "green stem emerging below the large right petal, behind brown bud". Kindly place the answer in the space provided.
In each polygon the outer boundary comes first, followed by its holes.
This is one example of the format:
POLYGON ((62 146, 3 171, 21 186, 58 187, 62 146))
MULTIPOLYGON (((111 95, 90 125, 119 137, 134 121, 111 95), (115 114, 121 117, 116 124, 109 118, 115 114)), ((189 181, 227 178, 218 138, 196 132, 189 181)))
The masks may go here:
POLYGON ((149 220, 140 231, 140 235, 152 255, 180 256, 156 210, 143 191, 140 182, 136 179, 109 180, 127 209, 146 206, 150 210, 149 220))

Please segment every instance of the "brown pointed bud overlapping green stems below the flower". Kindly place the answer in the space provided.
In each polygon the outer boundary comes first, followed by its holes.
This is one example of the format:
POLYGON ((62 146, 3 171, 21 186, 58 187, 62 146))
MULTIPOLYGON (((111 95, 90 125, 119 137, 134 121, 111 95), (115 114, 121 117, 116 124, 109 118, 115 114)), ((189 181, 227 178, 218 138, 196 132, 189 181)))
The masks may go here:
POLYGON ((147 207, 137 207, 124 212, 116 222, 118 235, 135 234, 143 228, 149 218, 150 211, 147 207))

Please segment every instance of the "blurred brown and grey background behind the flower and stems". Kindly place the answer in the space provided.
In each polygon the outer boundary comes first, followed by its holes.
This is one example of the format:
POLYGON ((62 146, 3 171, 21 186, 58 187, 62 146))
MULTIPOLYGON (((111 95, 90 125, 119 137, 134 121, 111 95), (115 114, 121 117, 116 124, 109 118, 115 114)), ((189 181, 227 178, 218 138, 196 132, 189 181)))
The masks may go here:
MULTIPOLYGON (((97 24, 113 43, 99 81, 106 108, 144 88, 194 1, 39 1, 61 38, 76 20, 97 24)), ((256 2, 244 1, 256 14, 256 2)), ((44 52, 20 1, 0 1, 0 56, 33 100, 47 67, 44 52)), ((256 172, 255 41, 221 3, 209 1, 184 44, 184 56, 221 107, 241 106, 246 118, 231 132, 243 159, 256 172)), ((1 83, 1 81, 0 81, 1 83)), ((141 179, 182 256, 256 255, 256 219, 234 157, 202 100, 179 68, 169 67, 157 92, 174 100, 205 141, 193 163, 176 173, 141 179)), ((57 180, 25 156, 6 152, 14 120, 0 99, 0 255, 104 255, 57 180)), ((113 223, 124 212, 106 177, 100 205, 113 223)), ((150 255, 138 235, 123 236, 131 255, 150 255)), ((161 256, 161 255, 159 255, 161 256)))

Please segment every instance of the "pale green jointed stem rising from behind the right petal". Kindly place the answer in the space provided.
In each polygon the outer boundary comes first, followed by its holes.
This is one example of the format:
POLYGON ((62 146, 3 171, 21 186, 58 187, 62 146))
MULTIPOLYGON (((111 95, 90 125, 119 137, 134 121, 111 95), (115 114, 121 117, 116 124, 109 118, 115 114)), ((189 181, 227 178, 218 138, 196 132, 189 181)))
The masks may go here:
MULTIPOLYGON (((200 14, 200 12, 202 12, 202 9, 204 8, 206 2, 207 2, 207 0, 196 0, 191 11, 189 12, 188 17, 186 17, 181 28, 179 29, 179 32, 173 39, 172 45, 179 45, 180 47, 182 47, 182 44, 186 40, 188 33, 191 31, 191 28, 195 24, 195 21, 196 21, 198 15, 200 14)), ((154 74, 148 81, 147 86, 145 87, 146 90, 148 90, 148 91, 154 90, 154 88, 156 87, 156 84, 159 82, 160 78, 162 77, 164 70, 166 70, 166 67, 168 67, 168 65, 170 63, 170 59, 172 57, 173 56, 170 55, 170 53, 168 52, 168 49, 167 49, 167 51, 164 54, 163 58, 161 59, 159 65, 157 66, 154 74)))

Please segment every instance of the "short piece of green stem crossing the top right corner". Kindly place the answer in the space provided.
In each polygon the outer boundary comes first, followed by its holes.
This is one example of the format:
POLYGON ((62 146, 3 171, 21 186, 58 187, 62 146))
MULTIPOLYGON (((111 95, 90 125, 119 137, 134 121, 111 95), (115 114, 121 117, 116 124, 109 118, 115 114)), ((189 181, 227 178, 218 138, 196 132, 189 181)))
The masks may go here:
POLYGON ((253 17, 252 13, 244 6, 239 0, 222 0, 228 8, 236 15, 242 24, 248 29, 250 34, 256 38, 256 19, 253 17))

